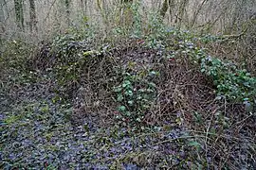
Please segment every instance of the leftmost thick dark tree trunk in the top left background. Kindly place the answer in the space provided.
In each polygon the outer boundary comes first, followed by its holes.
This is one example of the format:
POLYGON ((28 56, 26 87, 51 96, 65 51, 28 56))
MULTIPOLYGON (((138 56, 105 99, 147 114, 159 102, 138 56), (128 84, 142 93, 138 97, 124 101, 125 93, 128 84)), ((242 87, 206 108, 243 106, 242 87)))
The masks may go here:
POLYGON ((24 30, 23 0, 14 0, 16 24, 20 30, 24 30))

